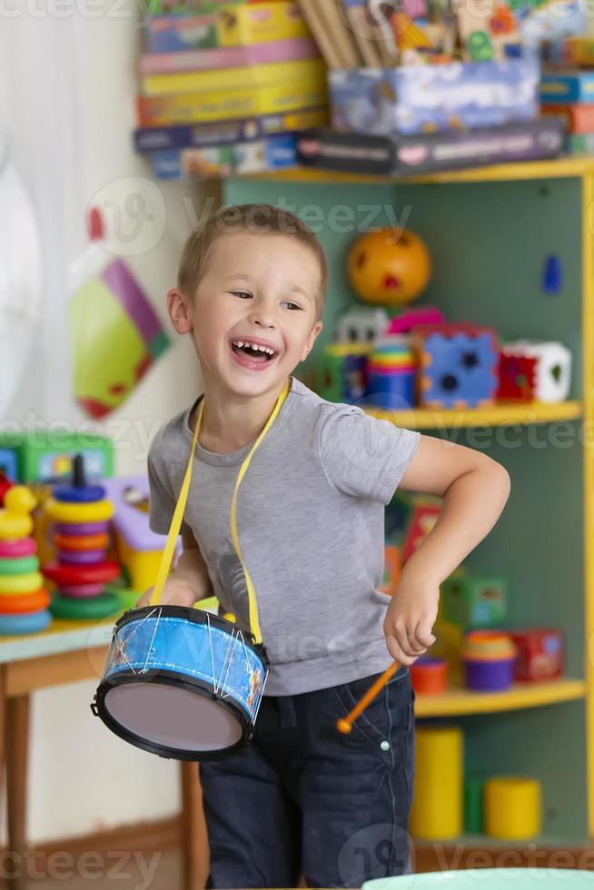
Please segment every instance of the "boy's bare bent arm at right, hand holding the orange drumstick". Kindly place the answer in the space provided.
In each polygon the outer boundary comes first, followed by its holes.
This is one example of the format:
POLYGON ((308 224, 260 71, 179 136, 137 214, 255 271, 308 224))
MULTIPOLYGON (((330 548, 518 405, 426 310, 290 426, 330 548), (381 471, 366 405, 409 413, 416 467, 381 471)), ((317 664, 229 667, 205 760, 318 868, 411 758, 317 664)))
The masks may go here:
POLYGON ((384 623, 392 657, 410 665, 435 642, 441 582, 499 519, 510 477, 480 451, 421 436, 401 488, 443 498, 440 518, 402 569, 384 623))

